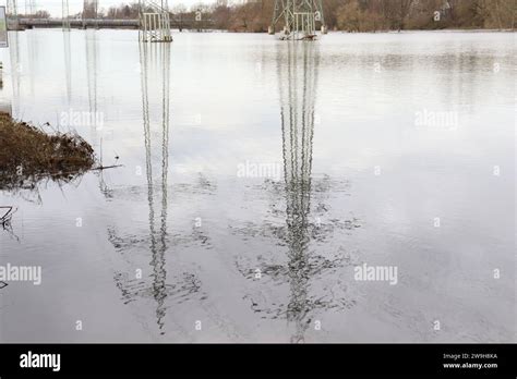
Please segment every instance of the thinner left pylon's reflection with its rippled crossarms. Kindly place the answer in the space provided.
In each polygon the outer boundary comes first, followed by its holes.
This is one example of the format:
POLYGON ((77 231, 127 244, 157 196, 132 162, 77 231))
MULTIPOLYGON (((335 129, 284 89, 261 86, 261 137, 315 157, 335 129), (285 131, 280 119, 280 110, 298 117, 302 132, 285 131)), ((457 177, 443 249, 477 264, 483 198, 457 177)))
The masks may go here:
MULTIPOLYGON (((140 258, 147 259, 152 268, 148 278, 143 274, 133 279, 134 273, 118 272, 115 276, 116 285, 122 292, 122 299, 125 304, 134 301, 152 298, 154 302, 155 319, 159 333, 166 334, 165 318, 168 305, 171 302, 180 304, 190 299, 193 294, 200 293, 201 282, 195 274, 182 272, 168 272, 166 269, 166 255, 172 245, 191 243, 181 234, 170 235, 167 227, 168 210, 168 170, 169 170, 169 81, 170 81, 170 46, 152 44, 140 45, 141 58, 141 84, 142 84, 142 107, 144 125, 144 146, 145 146, 145 171, 146 171, 146 197, 148 204, 148 224, 147 232, 137 231, 136 233, 127 233, 124 236, 118 236, 115 228, 108 230, 109 240, 115 248, 127 259, 130 265, 137 269, 140 258), (154 85, 158 83, 159 88, 154 85), (153 98, 149 95, 160 97, 159 115, 154 109, 151 109, 153 98), (159 133, 155 129, 159 127, 159 133), (159 138, 159 147, 153 144, 159 138), (158 157, 157 157, 158 156, 158 157), (159 161, 159 170, 156 171, 159 161), (157 180, 159 178, 159 180, 157 180), (170 241, 173 240, 173 241, 170 241), (175 244, 172 244, 172 242, 175 244), (139 250, 143 255, 139 255, 139 250), (148 260, 151 253, 151 261, 148 260)), ((140 187, 124 187, 123 191, 110 191, 109 197, 116 199, 132 198, 133 195, 140 197, 140 187)), ((193 236, 194 240, 196 236, 193 236)), ((204 244, 204 243, 203 243, 204 244)), ((175 271, 179 267, 175 267, 175 271)), ((145 269, 144 269, 145 271, 145 269)), ((144 307, 146 309, 146 307, 144 307)))

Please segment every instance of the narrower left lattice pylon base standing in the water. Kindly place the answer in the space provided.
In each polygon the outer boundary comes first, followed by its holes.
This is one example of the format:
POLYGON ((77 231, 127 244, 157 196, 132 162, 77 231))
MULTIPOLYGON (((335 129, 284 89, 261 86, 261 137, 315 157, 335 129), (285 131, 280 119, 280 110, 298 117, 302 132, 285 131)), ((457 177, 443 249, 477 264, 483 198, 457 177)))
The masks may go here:
POLYGON ((169 4, 167 0, 140 0, 139 39, 143 42, 171 42, 169 4))

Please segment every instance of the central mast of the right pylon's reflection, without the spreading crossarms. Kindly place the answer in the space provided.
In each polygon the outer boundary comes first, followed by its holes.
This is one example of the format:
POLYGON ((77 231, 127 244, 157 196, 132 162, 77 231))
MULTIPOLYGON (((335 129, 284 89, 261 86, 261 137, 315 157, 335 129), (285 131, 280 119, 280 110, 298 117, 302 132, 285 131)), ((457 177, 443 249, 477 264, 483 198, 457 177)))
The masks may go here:
POLYGON ((286 182, 287 243, 290 299, 287 319, 296 325, 293 342, 306 329, 312 146, 318 54, 312 44, 280 49, 278 75, 281 101, 284 178, 286 182))

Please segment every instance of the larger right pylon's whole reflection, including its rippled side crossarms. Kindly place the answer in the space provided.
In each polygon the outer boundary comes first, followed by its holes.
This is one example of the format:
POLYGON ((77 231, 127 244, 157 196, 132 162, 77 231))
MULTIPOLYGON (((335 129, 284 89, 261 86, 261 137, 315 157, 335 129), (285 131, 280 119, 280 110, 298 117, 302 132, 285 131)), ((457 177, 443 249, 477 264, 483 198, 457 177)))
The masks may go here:
MULTIPOLYGON (((328 175, 313 179, 318 47, 315 44, 292 41, 281 45, 277 53, 285 183, 281 186, 266 181, 265 186, 254 190, 269 190, 277 199, 285 195, 285 211, 274 205, 270 211, 274 220, 261 225, 249 222, 244 228, 233 228, 232 232, 244 239, 276 240, 275 252, 278 245, 286 246, 286 264, 266 262, 258 257, 260 270, 266 276, 265 280, 261 280, 261 285, 267 284, 267 278, 270 278, 274 286, 260 293, 250 293, 245 298, 251 301, 253 311, 262 314, 263 318, 286 318, 293 327, 291 342, 296 343, 304 341, 305 332, 315 322, 315 311, 318 309, 345 309, 356 304, 350 299, 339 273, 333 282, 328 282, 332 272, 352 265, 356 258, 341 247, 335 250, 333 244, 326 245, 326 242, 329 236, 334 240, 338 237, 338 232, 348 233, 360 228, 360 224, 354 218, 342 220, 325 216, 329 207, 324 204, 323 194, 348 195, 348 181, 330 179, 328 175), (316 203, 313 210, 311 200, 316 203), (284 220, 280 220, 282 216, 284 220), (324 216, 325 222, 322 220, 324 216), (311 242, 317 244, 317 249, 311 247, 311 242), (330 249, 326 250, 326 246, 330 249), (275 301, 275 295, 270 297, 270 294, 278 294, 276 285, 279 282, 289 288, 287 304, 275 301)), ((275 255, 269 259, 276 260, 278 257, 275 255)), ((238 258, 238 269, 251 279, 254 270, 245 269, 248 265, 253 264, 238 258)))

